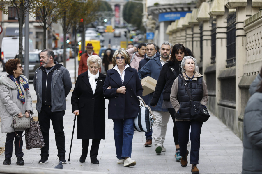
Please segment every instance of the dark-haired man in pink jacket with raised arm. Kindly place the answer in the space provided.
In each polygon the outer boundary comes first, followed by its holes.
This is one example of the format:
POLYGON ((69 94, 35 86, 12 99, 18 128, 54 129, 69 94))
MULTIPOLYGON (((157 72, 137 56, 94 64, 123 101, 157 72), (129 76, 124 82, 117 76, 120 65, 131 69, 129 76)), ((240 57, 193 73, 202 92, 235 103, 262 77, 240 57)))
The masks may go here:
POLYGON ((139 62, 145 58, 146 44, 141 43, 138 47, 126 50, 130 56, 130 66, 138 71, 139 62))

